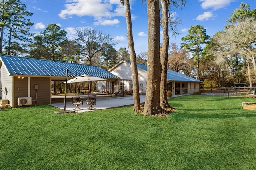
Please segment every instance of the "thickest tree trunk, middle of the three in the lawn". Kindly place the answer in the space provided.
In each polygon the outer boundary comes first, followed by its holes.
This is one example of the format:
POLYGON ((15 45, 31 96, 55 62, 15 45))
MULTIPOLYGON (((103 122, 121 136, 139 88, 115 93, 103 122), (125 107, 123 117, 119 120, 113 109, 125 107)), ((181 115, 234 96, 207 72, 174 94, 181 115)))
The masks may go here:
POLYGON ((147 0, 148 13, 148 77, 144 114, 154 115, 162 112, 160 106, 160 10, 158 0, 147 0))

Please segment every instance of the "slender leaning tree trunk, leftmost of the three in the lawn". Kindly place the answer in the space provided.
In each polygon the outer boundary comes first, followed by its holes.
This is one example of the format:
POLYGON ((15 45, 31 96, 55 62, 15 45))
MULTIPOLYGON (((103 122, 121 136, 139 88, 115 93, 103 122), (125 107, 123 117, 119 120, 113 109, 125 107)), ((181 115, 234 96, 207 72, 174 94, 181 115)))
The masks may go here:
POLYGON ((126 7, 126 25, 127 25, 127 38, 128 47, 130 49, 130 60, 132 67, 132 84, 133 84, 133 112, 140 110, 140 92, 139 92, 139 78, 136 63, 136 53, 134 49, 134 42, 132 36, 132 19, 129 0, 125 0, 126 7))

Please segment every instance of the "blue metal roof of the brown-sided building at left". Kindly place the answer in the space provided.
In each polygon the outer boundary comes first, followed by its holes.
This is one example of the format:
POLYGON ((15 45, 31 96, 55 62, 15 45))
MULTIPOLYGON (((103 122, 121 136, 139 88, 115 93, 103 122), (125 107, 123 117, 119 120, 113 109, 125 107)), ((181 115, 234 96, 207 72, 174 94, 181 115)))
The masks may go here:
MULTIPOLYGON (((113 75, 112 73, 94 65, 67 63, 28 57, 15 57, 8 55, 0 55, 0 60, 10 75, 66 77, 66 70, 68 69, 75 76, 88 74, 104 79, 120 79, 116 75, 113 75)), ((68 72, 68 76, 74 77, 72 74, 70 74, 70 72, 68 72)))

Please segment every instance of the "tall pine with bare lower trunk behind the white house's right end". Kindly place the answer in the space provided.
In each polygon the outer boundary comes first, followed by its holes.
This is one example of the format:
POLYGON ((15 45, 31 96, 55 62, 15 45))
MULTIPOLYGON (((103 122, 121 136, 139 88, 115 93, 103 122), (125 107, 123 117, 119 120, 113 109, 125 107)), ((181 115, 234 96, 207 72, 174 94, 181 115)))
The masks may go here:
POLYGON ((206 30, 203 26, 194 25, 190 27, 188 30, 188 35, 182 37, 181 40, 184 42, 182 43, 182 47, 184 49, 188 49, 194 57, 196 57, 197 62, 197 74, 196 79, 199 79, 199 58, 200 53, 203 51, 202 45, 204 45, 210 36, 206 35, 206 30))

